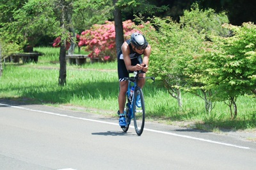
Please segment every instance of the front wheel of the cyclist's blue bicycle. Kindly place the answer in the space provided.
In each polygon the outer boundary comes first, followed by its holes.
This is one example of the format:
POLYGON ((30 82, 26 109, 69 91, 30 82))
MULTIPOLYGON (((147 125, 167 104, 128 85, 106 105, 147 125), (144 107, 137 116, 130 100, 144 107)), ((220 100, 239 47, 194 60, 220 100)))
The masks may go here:
POLYGON ((142 89, 137 87, 134 90, 134 100, 133 100, 133 120, 134 128, 137 135, 141 135, 145 125, 145 102, 142 89), (136 98, 140 95, 141 107, 136 105, 136 98))

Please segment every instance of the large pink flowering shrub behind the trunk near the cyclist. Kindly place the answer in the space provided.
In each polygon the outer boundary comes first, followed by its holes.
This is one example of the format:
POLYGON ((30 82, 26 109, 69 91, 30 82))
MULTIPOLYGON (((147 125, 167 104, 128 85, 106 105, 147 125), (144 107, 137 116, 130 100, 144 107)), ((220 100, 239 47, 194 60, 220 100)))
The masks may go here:
MULTIPOLYGON (((83 31, 78 43, 79 47, 85 45, 82 49, 90 52, 91 58, 100 58, 101 61, 114 61, 116 59, 116 40, 115 23, 106 21, 106 24, 95 24, 91 29, 83 31)), ((146 24, 148 24, 147 22, 146 24)), ((131 20, 123 22, 124 39, 128 40, 132 33, 141 33, 143 25, 136 26, 131 20)), ((154 28, 152 27, 152 30, 154 28)))

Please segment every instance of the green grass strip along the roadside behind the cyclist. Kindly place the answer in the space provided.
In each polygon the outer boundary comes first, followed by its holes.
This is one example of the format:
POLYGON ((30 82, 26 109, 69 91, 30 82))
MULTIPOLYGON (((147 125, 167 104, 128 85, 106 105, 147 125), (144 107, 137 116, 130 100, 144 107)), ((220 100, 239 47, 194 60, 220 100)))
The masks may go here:
MULTIPOLYGON (((83 66, 68 65, 67 86, 58 86, 58 69, 44 69, 45 66, 59 68, 58 48, 36 49, 44 52, 38 63, 6 65, 0 78, 0 98, 22 100, 48 105, 74 105, 116 116, 118 110, 117 64, 86 63, 83 66), (57 53, 57 54, 55 54, 57 53), (77 69, 78 68, 78 69, 77 69), (102 70, 103 69, 103 70, 102 70), (108 70, 108 71, 106 71, 108 70)), ((143 88, 147 120, 168 125, 195 127, 221 133, 221 128, 255 131, 256 98, 243 96, 237 99, 238 116, 230 118, 230 111, 223 102, 218 102, 211 114, 204 111, 204 101, 189 93, 182 93, 184 110, 179 111, 177 100, 166 89, 158 88, 150 80, 143 88)))

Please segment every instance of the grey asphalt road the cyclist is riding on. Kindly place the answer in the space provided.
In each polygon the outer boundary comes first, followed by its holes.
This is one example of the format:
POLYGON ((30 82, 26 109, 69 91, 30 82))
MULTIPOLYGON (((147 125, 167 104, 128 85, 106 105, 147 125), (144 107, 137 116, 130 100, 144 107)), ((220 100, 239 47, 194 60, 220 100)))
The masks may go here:
POLYGON ((152 122, 138 136, 116 118, 0 100, 0 169, 256 169, 256 143, 152 122))

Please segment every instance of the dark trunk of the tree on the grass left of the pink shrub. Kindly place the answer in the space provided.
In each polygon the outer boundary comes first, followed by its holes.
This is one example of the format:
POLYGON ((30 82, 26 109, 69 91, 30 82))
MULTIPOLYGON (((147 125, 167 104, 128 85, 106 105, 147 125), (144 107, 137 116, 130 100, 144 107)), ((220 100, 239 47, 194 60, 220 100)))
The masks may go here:
POLYGON ((63 29, 63 33, 61 36, 61 46, 60 46, 60 77, 59 77, 59 85, 64 86, 67 84, 67 61, 66 61, 66 27, 65 27, 65 6, 63 5, 62 15, 61 15, 61 28, 63 29))

